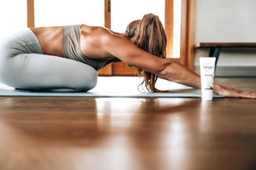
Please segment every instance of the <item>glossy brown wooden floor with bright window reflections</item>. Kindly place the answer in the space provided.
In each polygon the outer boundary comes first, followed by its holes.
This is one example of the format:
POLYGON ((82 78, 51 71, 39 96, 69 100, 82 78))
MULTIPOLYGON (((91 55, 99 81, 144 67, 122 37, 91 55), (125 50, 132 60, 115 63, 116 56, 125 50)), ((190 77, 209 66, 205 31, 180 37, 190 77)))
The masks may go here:
POLYGON ((253 170, 256 100, 0 97, 0 169, 253 170))

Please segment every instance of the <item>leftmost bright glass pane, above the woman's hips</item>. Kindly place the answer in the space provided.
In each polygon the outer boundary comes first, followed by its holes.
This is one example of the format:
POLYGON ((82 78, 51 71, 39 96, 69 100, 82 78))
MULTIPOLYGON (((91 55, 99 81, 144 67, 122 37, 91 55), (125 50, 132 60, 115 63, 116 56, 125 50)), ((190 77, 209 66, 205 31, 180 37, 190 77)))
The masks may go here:
POLYGON ((0 22, 0 39, 27 28, 27 0, 0 1, 0 22))

